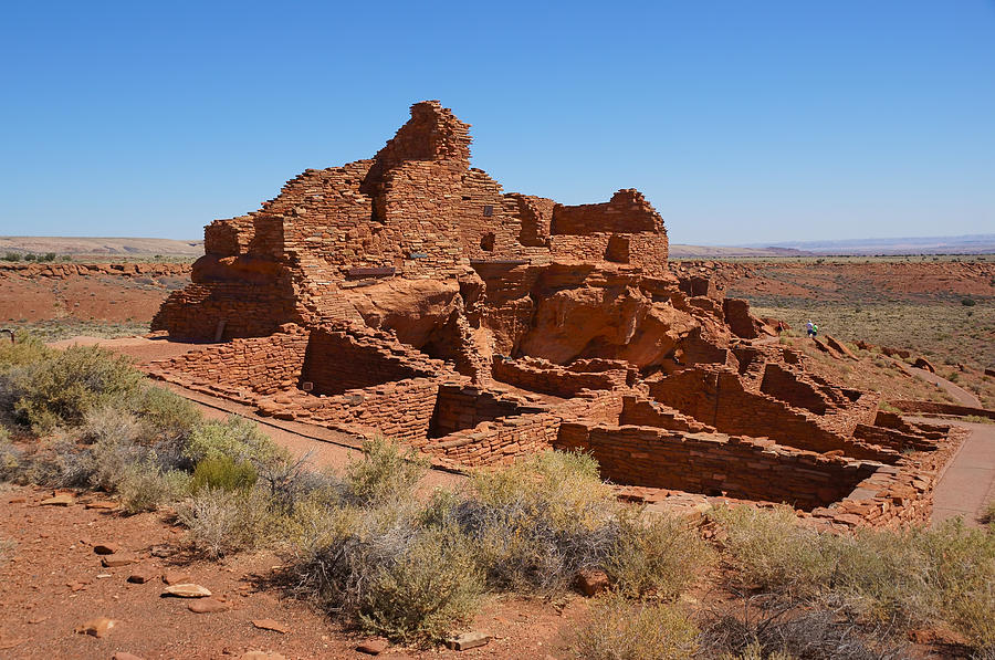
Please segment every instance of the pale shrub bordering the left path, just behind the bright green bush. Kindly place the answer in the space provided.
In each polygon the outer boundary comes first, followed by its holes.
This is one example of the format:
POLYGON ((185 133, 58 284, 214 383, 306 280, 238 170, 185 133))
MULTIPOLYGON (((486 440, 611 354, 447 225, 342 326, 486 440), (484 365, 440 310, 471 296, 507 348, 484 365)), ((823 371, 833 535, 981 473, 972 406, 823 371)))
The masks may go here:
POLYGON ((259 465, 279 461, 287 452, 260 431, 255 422, 230 415, 223 422, 199 425, 190 436, 185 454, 193 463, 227 457, 235 462, 250 461, 259 465))

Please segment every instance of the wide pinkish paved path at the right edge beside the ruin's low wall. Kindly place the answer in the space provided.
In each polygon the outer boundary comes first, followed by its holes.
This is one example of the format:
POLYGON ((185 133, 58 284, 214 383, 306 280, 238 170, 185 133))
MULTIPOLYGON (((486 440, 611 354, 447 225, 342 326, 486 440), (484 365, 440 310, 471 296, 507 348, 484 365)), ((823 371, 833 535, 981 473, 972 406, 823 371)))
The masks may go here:
POLYGON ((976 526, 985 504, 995 500, 995 425, 956 423, 971 436, 933 490, 933 524, 961 516, 976 526))

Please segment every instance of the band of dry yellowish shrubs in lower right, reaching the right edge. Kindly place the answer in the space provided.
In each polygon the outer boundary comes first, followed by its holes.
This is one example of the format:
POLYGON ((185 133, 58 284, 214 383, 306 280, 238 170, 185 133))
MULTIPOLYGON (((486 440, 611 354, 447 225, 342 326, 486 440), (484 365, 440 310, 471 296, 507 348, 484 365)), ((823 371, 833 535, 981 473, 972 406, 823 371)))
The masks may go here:
POLYGON ((995 647, 995 533, 936 528, 806 530, 786 509, 720 509, 734 583, 782 599, 828 604, 868 625, 944 620, 978 649, 995 647))

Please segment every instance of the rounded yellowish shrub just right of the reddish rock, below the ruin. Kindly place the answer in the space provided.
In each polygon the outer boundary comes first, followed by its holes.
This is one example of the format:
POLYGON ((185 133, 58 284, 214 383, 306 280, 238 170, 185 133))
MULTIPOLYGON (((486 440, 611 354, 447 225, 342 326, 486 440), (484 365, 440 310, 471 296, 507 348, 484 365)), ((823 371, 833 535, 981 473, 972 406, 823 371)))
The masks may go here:
POLYGON ((711 561, 711 552, 696 531, 674 515, 622 510, 605 572, 627 596, 654 594, 674 598, 711 561))

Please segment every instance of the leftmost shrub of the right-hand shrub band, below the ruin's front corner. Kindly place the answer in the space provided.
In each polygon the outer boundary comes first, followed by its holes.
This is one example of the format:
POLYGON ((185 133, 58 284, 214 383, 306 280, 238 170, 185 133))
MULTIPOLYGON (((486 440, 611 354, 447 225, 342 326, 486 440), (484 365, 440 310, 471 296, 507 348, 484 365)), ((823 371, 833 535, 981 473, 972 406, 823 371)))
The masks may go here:
POLYGON ((787 506, 721 506, 709 513, 724 532, 723 549, 740 586, 811 596, 837 572, 836 538, 798 524, 787 506))

